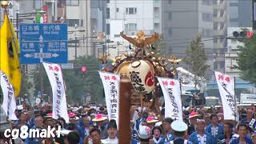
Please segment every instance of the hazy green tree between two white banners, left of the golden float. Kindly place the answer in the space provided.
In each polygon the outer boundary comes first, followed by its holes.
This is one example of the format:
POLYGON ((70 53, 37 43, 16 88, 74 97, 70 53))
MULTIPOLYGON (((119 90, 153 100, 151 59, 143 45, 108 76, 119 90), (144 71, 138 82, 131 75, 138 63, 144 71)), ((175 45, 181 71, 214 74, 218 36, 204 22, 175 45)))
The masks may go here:
POLYGON ((74 70, 63 70, 68 100, 72 101, 76 98, 74 102, 78 102, 78 100, 90 94, 92 102, 102 102, 103 87, 98 74, 101 62, 90 56, 79 57, 72 62, 75 66, 74 70), (82 66, 86 66, 86 73, 82 72, 82 66))

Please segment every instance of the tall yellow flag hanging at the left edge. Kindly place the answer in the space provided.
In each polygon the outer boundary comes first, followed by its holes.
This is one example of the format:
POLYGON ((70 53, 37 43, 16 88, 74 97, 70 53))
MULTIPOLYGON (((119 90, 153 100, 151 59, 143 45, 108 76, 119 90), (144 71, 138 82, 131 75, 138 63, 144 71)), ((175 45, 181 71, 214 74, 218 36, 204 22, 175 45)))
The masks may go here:
POLYGON ((6 13, 0 33, 0 70, 10 79, 10 83, 14 86, 15 97, 18 97, 22 81, 21 66, 18 56, 20 50, 18 38, 14 32, 14 26, 9 21, 6 13))

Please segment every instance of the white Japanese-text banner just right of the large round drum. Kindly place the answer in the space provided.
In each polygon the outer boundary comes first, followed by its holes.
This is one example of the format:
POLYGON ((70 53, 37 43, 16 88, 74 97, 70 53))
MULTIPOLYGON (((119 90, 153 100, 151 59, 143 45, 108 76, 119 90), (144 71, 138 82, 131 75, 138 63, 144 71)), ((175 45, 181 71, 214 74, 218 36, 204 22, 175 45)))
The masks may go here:
POLYGON ((179 81, 158 77, 158 82, 165 99, 165 118, 182 120, 182 98, 179 81))

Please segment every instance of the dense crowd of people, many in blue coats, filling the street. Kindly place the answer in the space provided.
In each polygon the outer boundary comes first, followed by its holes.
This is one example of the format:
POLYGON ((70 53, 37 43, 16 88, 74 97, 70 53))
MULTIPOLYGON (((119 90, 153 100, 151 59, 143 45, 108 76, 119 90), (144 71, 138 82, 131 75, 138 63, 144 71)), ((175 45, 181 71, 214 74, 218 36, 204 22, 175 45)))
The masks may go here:
MULTIPOLYGON (((239 108, 239 121, 224 120, 222 108, 189 108, 183 121, 165 118, 164 108, 156 114, 150 109, 131 106, 131 144, 256 144, 256 106, 239 108)), ((51 106, 18 106, 18 120, 12 129, 28 126, 43 130, 61 126, 60 138, 18 138, 25 144, 114 144, 118 143, 118 125, 107 117, 106 106, 86 105, 68 108, 69 122, 54 119, 51 106)), ((128 134, 127 134, 128 135, 128 134)), ((2 136, 1 136, 2 138, 2 136)))

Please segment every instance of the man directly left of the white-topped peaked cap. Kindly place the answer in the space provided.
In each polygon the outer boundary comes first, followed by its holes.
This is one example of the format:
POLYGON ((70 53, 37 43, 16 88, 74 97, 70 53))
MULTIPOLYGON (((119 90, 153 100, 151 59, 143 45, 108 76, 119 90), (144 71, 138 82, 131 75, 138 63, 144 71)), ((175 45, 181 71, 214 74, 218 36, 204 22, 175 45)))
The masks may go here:
POLYGON ((165 118, 162 122, 162 127, 165 134, 165 142, 170 142, 174 139, 173 130, 171 129, 171 123, 174 122, 172 118, 165 118))

